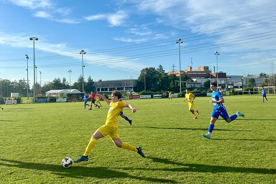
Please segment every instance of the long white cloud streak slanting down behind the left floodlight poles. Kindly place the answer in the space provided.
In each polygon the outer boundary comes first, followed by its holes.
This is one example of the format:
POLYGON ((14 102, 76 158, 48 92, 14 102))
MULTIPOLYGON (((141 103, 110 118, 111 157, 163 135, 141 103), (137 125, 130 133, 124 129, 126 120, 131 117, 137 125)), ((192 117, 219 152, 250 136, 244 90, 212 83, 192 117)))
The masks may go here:
MULTIPOLYGON (((37 37, 42 37, 40 35, 37 35, 37 37)), ((4 32, 0 32, 0 44, 2 45, 9 45, 12 47, 22 47, 22 48, 33 48, 32 42, 28 39, 29 36, 26 34, 7 34, 4 32)), ((66 48, 70 47, 66 43, 48 43, 47 41, 43 39, 39 39, 39 41, 35 42, 35 49, 36 53, 37 51, 45 51, 49 53, 55 53, 57 55, 72 55, 71 57, 74 58, 74 60, 82 60, 81 55, 77 54, 75 51, 66 51, 66 48), (65 50, 62 50, 65 49, 65 50), (61 52, 62 50, 62 52, 61 52)), ((113 56, 113 55, 92 55, 89 54, 89 49, 84 50, 87 52, 87 54, 83 57, 83 61, 85 62, 85 66, 89 67, 90 65, 93 66, 93 64, 99 64, 99 65, 104 65, 109 68, 118 68, 118 63, 120 64, 120 67, 118 69, 121 70, 135 70, 135 71, 140 71, 142 68, 146 67, 143 64, 139 63, 138 60, 136 59, 134 61, 128 61, 128 60, 133 60, 133 59, 128 59, 127 57, 121 58, 121 60, 114 61, 112 63, 112 60, 117 60, 117 59, 112 59, 112 58, 118 58, 120 56, 113 56), (135 67, 133 67, 135 65, 135 67)), ((53 64, 64 64, 64 61, 56 60, 53 61, 53 64)), ((51 64, 51 63, 50 63, 51 64)), ((70 62, 68 63, 70 64, 70 62)), ((39 65, 45 65, 45 62, 43 60, 37 59, 37 66, 39 65)), ((66 64, 64 64, 66 66, 66 64)), ((85 67, 85 68, 86 68, 85 67)))

